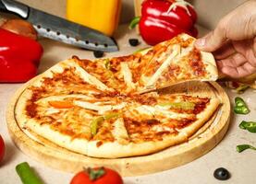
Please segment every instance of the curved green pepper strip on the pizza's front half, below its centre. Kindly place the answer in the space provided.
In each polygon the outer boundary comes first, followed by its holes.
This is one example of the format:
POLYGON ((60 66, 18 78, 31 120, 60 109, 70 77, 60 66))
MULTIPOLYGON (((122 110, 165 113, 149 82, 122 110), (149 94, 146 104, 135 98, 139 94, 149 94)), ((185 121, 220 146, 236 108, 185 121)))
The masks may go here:
POLYGON ((96 135, 96 133, 98 132, 99 123, 101 123, 103 121, 108 121, 108 120, 113 119, 113 118, 118 118, 120 116, 120 114, 121 113, 109 113, 109 114, 106 114, 104 116, 99 116, 97 118, 94 118, 91 121, 91 125, 90 125, 91 135, 92 136, 96 135))

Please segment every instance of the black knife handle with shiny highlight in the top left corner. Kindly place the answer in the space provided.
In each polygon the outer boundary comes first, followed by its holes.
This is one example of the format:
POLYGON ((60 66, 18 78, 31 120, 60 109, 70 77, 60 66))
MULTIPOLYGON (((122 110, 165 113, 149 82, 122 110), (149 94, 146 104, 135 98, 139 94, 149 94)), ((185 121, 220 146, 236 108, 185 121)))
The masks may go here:
POLYGON ((30 7, 13 0, 0 0, 0 10, 26 19, 29 16, 30 7))

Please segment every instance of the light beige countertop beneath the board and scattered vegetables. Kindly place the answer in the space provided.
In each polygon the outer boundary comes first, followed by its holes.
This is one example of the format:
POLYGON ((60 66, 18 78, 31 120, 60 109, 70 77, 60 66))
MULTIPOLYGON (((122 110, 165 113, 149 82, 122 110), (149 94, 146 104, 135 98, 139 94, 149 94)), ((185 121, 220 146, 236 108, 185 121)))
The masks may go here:
MULTIPOLYGON (((206 29, 200 28, 201 35, 206 32, 206 29)), ((132 53, 146 46, 133 30, 128 30, 128 26, 119 27, 115 38, 118 42, 120 52, 106 53, 106 57, 132 53), (141 41, 140 45, 138 47, 129 46, 128 39, 130 38, 139 38, 141 41)), ((74 48, 53 40, 42 39, 40 42, 44 48, 44 55, 39 68, 40 73, 43 73, 43 71, 55 63, 65 60, 72 55, 78 55, 80 58, 87 59, 94 58, 92 52, 74 48)), ((69 183, 73 174, 45 167, 42 163, 38 163, 33 158, 23 154, 11 141, 6 127, 6 107, 9 99, 20 86, 22 84, 0 84, 0 134, 6 142, 5 160, 0 165, 0 183, 21 183, 15 167, 24 161, 27 161, 30 167, 33 167, 39 173, 45 184, 69 183)), ((229 89, 226 89, 226 92, 230 101, 233 103, 234 97, 238 95, 229 89)), ((256 145, 256 133, 253 134, 238 128, 240 121, 256 121, 256 93, 250 89, 240 95, 240 97, 244 98, 249 104, 250 114, 244 116, 232 113, 230 127, 225 138, 212 151, 181 167, 141 177, 124 178, 125 184, 256 183, 256 151, 247 150, 240 154, 236 151, 237 144, 256 145), (213 178, 213 171, 217 167, 226 167, 231 173, 231 178, 226 181, 219 181, 213 178)))

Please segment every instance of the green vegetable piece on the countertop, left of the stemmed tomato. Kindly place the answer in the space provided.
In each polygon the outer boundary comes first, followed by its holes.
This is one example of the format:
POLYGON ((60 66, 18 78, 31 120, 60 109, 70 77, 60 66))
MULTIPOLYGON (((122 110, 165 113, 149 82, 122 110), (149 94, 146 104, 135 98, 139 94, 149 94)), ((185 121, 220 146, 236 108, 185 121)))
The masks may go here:
POLYGON ((16 171, 23 184, 43 184, 27 162, 18 164, 16 171))

